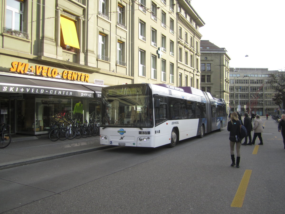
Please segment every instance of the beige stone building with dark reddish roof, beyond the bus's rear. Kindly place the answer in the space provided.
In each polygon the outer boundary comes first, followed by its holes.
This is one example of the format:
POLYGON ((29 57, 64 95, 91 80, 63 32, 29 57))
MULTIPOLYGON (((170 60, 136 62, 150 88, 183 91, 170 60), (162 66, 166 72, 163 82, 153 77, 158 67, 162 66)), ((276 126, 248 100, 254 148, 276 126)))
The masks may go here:
POLYGON ((201 40, 201 90, 222 98, 229 111, 229 60, 225 48, 220 48, 209 40, 201 40))

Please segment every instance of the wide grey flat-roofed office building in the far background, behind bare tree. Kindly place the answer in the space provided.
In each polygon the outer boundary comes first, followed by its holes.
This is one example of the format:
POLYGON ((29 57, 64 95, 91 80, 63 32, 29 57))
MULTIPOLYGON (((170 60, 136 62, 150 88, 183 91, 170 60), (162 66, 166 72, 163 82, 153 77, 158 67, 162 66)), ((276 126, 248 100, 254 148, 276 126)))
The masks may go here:
POLYGON ((230 110, 242 114, 278 114, 279 106, 274 104, 274 91, 266 84, 268 76, 278 70, 268 68, 230 68, 230 110))

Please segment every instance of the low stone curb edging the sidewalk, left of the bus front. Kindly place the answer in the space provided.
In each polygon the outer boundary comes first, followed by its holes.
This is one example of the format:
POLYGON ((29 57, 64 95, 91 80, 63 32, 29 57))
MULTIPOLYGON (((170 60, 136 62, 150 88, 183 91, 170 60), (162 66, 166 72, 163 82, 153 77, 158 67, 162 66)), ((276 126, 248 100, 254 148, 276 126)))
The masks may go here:
POLYGON ((9 169, 9 168, 17 167, 17 166, 24 166, 24 165, 28 165, 28 164, 32 164, 32 163, 38 163, 38 162, 47 161, 47 160, 64 158, 64 157, 73 156, 73 155, 84 154, 87 152, 94 152, 97 150, 103 150, 103 149, 108 149, 108 148, 112 148, 112 147, 114 147, 114 146, 102 145, 102 146, 96 146, 94 148, 89 148, 89 149, 85 149, 85 150, 74 150, 74 151, 70 151, 68 153, 62 152, 62 153, 57 153, 57 154, 38 156, 38 157, 34 157, 34 158, 26 158, 26 159, 21 159, 21 160, 9 161, 6 163, 1 163, 0 164, 0 170, 9 169))

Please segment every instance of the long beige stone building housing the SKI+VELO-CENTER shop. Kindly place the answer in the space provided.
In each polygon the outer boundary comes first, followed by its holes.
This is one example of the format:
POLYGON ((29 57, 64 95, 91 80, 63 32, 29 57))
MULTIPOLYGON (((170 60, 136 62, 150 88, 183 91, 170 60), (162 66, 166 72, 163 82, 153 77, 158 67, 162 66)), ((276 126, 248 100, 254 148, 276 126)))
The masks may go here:
POLYGON ((0 2, 0 118, 11 133, 47 133, 79 101, 88 120, 106 85, 200 88, 204 22, 190 0, 0 2))

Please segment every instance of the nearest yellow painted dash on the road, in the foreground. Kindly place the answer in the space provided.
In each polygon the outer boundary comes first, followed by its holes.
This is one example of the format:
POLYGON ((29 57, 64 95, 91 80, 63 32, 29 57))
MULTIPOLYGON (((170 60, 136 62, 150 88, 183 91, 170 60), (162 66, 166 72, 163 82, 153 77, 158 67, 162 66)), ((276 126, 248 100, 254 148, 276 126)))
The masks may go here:
POLYGON ((237 193, 233 198, 231 203, 231 207, 242 207, 243 200, 245 199, 245 193, 247 191, 247 186, 249 184, 249 179, 251 176, 252 170, 246 169, 245 173, 243 174, 243 178, 241 179, 241 183, 239 184, 239 188, 237 189, 237 193))

